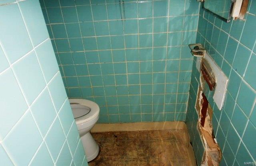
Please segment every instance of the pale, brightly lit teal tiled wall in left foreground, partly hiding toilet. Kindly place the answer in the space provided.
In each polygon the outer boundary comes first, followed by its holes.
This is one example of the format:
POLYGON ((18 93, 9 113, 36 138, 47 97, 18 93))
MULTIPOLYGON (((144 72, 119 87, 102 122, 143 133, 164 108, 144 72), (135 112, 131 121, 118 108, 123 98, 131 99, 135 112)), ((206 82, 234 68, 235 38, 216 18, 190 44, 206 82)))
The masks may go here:
POLYGON ((0 1, 0 22, 0 165, 88 166, 39 1, 0 1))

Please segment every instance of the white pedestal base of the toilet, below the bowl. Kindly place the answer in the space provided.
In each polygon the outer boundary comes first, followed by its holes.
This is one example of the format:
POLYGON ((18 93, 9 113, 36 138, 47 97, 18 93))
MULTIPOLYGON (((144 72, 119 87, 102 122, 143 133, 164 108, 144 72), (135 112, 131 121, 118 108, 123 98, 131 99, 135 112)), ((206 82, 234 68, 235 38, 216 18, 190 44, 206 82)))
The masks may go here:
POLYGON ((85 135, 80 137, 80 139, 84 146, 84 152, 86 155, 87 162, 96 158, 99 154, 100 147, 92 137, 91 133, 86 133, 85 135))

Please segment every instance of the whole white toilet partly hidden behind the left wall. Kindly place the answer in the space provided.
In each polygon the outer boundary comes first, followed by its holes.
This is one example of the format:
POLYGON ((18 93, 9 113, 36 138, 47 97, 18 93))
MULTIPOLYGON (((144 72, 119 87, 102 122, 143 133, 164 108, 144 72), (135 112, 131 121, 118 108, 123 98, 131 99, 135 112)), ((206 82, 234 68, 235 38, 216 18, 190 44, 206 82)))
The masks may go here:
POLYGON ((99 145, 90 133, 99 119, 100 107, 98 104, 85 99, 70 99, 69 102, 89 162, 98 156, 100 150, 99 145))

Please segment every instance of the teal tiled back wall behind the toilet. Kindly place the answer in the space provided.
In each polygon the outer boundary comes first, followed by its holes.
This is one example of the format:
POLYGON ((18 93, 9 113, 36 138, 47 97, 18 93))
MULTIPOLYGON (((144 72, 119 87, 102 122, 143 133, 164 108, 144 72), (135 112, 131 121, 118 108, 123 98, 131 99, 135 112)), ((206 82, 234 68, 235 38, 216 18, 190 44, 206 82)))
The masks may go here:
POLYGON ((184 121, 195 0, 42 0, 66 92, 99 123, 184 121))

